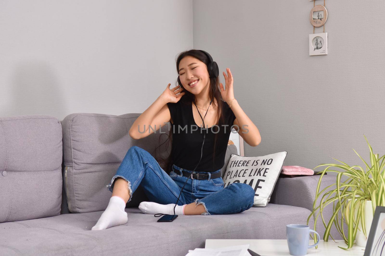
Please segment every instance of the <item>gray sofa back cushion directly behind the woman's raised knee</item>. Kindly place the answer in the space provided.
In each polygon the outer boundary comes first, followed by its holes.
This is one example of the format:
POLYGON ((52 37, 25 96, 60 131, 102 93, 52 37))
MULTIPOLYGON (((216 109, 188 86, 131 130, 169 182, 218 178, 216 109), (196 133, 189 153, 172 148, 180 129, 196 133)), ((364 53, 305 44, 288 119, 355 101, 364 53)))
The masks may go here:
MULTIPOLYGON (((141 147, 157 160, 169 156, 170 141, 164 143, 171 128, 168 124, 143 139, 130 137, 128 131, 139 116, 140 113, 120 116, 74 113, 63 119, 63 178, 70 212, 105 210, 112 195, 106 186, 130 147, 141 147)), ((165 168, 162 162, 159 165, 165 168)), ((147 200, 139 185, 126 207, 136 207, 147 200)))

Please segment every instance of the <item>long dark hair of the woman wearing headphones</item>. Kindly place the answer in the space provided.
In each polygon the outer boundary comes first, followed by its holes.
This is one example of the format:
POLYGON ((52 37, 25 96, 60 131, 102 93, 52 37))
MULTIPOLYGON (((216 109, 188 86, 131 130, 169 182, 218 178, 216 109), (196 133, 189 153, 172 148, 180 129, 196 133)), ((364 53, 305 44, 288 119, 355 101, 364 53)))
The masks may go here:
MULTIPOLYGON (((208 66, 208 64, 210 63, 210 60, 207 58, 207 56, 203 52, 201 52, 199 50, 192 49, 192 50, 188 50, 188 51, 183 51, 182 53, 180 53, 178 55, 178 57, 176 59, 176 71, 177 71, 178 75, 179 75, 179 63, 186 56, 191 56, 191 57, 194 57, 196 59, 199 59, 200 61, 205 63, 206 66, 208 66)), ((216 119, 215 120, 218 120, 216 125, 221 127, 221 124, 224 124, 224 116, 223 116, 223 111, 222 111, 224 101, 222 99, 222 95, 221 95, 221 92, 220 92, 220 89, 219 89, 219 76, 218 77, 211 77, 209 79, 210 79, 210 84, 209 84, 210 88, 209 88, 209 95, 208 95, 209 96, 209 101, 211 101, 211 99, 213 99, 213 98, 216 99, 216 102, 218 104, 218 111, 217 111, 217 115, 216 115, 216 119)), ((179 83, 176 80, 176 85, 178 85, 178 84, 179 83)), ((182 85, 182 87, 183 87, 183 85, 182 85)), ((185 94, 179 100, 179 101, 182 102, 182 104, 192 104, 192 102, 196 103, 195 102, 195 95, 194 94, 192 94, 191 92, 187 91, 186 89, 184 89, 183 91, 185 92, 185 94)), ((214 100, 213 100, 213 102, 214 102, 214 100)), ((213 102, 211 103, 212 105, 213 105, 213 102)), ((216 130, 214 130, 214 129, 213 129, 213 131, 216 132, 216 130)), ((213 146, 213 169, 214 169, 214 160, 215 160, 215 151, 216 151, 215 148, 216 148, 216 141, 217 141, 218 133, 219 132, 217 132, 215 134, 214 146, 213 146)), ((167 174, 169 174, 172 171, 171 170, 171 166, 173 164, 173 162, 172 162, 172 160, 173 160, 172 159, 172 157, 173 157, 172 156, 172 128, 169 130, 168 139, 164 143, 169 143, 167 145, 171 145, 171 151, 170 151, 171 154, 166 159, 158 158, 156 160, 159 162, 159 164, 160 163, 164 164, 165 171, 166 171, 167 174)), ((164 144, 164 143, 162 143, 162 144, 164 144)), ((161 145, 159 145, 159 147, 161 145)), ((197 161, 198 161, 198 159, 197 159, 197 161)), ((198 170, 198 171, 202 171, 202 170, 198 170)))

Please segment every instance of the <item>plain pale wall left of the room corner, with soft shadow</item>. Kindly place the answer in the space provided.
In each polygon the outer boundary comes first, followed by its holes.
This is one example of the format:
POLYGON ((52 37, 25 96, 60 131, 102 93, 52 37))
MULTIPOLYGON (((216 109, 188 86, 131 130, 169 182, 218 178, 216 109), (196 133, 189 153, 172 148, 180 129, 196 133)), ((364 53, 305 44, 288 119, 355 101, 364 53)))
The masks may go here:
POLYGON ((0 116, 143 112, 192 48, 191 0, 0 0, 0 116))

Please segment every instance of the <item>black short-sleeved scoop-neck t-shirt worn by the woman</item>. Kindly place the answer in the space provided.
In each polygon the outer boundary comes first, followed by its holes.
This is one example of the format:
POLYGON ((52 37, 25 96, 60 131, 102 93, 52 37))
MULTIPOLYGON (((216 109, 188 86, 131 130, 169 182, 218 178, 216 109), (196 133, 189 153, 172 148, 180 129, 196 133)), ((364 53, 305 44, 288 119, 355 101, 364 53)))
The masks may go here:
POLYGON ((171 119, 174 122, 174 124, 170 122, 172 129, 172 163, 187 170, 194 170, 201 158, 203 134, 207 133, 204 139, 202 159, 195 171, 214 172, 222 168, 231 126, 236 118, 229 105, 223 102, 224 124, 221 124, 219 120, 217 126, 208 127, 207 129, 201 127, 202 124, 198 126, 195 123, 194 116, 192 115, 192 107, 195 107, 195 105, 192 102, 186 103, 186 98, 182 97, 177 103, 169 102, 167 106, 170 110, 171 119), (217 132, 218 137, 213 163, 214 138, 217 132))

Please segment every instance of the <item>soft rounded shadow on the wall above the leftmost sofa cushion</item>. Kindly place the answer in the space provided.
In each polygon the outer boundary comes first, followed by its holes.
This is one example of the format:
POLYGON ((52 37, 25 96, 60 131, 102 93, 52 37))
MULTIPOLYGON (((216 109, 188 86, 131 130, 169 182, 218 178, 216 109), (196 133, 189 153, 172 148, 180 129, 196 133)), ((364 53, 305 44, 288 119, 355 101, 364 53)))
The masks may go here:
POLYGON ((57 74, 45 61, 18 63, 8 88, 9 104, 0 116, 44 114, 60 120, 67 113, 57 74))

